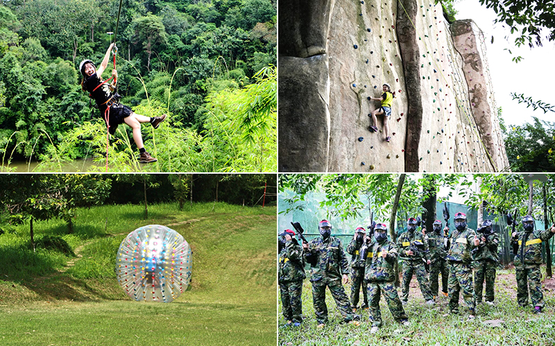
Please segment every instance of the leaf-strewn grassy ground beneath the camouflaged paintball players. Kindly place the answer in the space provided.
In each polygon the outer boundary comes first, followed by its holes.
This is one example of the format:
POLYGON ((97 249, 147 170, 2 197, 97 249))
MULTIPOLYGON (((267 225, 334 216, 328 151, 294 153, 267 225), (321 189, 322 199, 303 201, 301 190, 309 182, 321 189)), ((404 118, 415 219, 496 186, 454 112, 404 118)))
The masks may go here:
MULTIPOLYGON (((545 277, 545 266, 543 274, 545 277)), ((380 308, 384 327, 377 334, 370 334, 371 324, 368 322, 367 311, 359 310, 362 321, 359 327, 339 324, 342 318, 329 290, 326 293, 326 304, 330 322, 323 329, 316 329, 311 284, 305 280, 302 289, 302 314, 305 320, 301 327, 284 327, 286 321, 281 314, 282 305, 279 302, 278 345, 555 345, 555 291, 553 279, 549 282, 551 289, 544 290, 544 313, 536 315, 530 307, 518 307, 514 268, 499 270, 495 286, 495 306, 480 304, 476 319, 468 322, 466 313, 449 313, 447 298, 443 296, 437 298, 436 307, 428 307, 418 289, 416 277, 413 277, 409 304, 405 306, 411 326, 403 327, 394 322, 382 298, 380 308), (486 322, 488 320, 503 322, 498 327, 493 327, 486 322)), ((346 291, 349 294, 349 290, 346 291)), ((399 293, 400 291, 398 289, 399 293)))

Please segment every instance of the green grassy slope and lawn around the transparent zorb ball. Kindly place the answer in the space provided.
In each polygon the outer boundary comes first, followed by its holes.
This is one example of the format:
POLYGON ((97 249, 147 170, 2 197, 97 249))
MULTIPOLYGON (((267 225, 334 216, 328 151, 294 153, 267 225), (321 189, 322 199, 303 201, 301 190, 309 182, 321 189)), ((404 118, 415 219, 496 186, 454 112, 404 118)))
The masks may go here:
POLYGON ((79 210, 75 225, 67 235, 61 221, 36 222, 35 233, 82 257, 33 253, 23 226, 0 236, 0 262, 12 263, 0 272, 1 345, 275 345, 275 206, 160 204, 146 221, 141 206, 103 206, 79 210), (146 224, 193 249, 191 286, 169 304, 135 302, 115 278, 119 243, 146 224))

